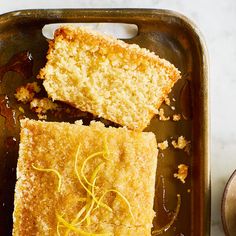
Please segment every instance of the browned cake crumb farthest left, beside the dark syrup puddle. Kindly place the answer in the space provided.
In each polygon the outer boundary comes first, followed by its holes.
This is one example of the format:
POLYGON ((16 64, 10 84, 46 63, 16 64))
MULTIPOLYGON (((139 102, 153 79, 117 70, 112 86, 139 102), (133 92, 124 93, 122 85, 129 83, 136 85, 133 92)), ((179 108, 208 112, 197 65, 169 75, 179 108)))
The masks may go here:
POLYGON ((39 93, 40 90, 37 82, 27 83, 16 89, 15 98, 18 102, 28 103, 33 100, 35 94, 39 93))

